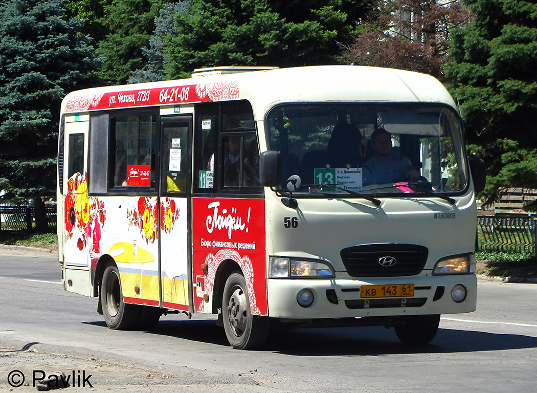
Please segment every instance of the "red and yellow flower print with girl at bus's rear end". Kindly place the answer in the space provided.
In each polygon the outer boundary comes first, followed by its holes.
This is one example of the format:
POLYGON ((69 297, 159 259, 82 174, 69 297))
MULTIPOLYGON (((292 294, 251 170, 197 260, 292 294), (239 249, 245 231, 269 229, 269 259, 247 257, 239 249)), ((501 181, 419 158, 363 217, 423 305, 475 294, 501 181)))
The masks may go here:
POLYGON ((99 252, 100 228, 106 220, 104 202, 88 197, 86 174, 72 175, 67 181, 67 194, 64 200, 64 223, 66 233, 64 242, 78 234, 77 247, 82 251, 91 238, 92 249, 99 252))

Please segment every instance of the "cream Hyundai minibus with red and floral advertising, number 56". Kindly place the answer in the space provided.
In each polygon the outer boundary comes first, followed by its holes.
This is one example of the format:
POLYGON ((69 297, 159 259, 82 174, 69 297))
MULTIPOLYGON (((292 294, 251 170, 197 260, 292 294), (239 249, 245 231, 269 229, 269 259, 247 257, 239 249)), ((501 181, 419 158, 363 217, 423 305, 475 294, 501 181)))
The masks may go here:
POLYGON ((475 310, 483 185, 452 97, 424 74, 220 67, 74 91, 57 164, 63 288, 97 297, 117 330, 215 314, 239 349, 275 324, 394 327, 424 344, 440 315, 475 310), (386 170, 381 139, 404 170, 386 170))

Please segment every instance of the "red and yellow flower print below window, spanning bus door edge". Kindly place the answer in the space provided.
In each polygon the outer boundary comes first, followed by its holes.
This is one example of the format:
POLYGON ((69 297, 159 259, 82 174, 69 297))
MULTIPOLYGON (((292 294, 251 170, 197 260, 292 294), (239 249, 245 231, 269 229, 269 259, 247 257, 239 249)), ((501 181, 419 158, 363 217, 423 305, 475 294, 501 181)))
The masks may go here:
MULTIPOLYGON (((140 229, 146 243, 158 239, 158 204, 156 198, 141 197, 133 209, 127 209, 129 226, 140 229)), ((161 231, 170 233, 175 221, 179 218, 180 209, 170 198, 161 199, 161 231)))

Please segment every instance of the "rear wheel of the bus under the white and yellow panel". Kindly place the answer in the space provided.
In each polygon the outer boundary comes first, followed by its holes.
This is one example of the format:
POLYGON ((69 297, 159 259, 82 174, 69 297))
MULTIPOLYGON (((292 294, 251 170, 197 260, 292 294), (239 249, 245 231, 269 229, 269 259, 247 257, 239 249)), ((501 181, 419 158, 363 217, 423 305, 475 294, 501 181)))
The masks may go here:
POLYGON ((137 327, 141 309, 134 304, 124 303, 119 270, 115 265, 108 265, 104 270, 100 301, 108 327, 114 330, 131 330, 137 327))

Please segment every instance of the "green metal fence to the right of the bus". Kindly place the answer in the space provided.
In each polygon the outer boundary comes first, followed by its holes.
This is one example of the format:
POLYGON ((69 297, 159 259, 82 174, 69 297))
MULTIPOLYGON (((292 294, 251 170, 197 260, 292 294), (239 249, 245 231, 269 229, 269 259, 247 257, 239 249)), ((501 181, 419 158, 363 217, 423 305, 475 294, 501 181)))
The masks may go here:
POLYGON ((477 251, 536 255, 536 221, 532 216, 477 217, 477 251))

